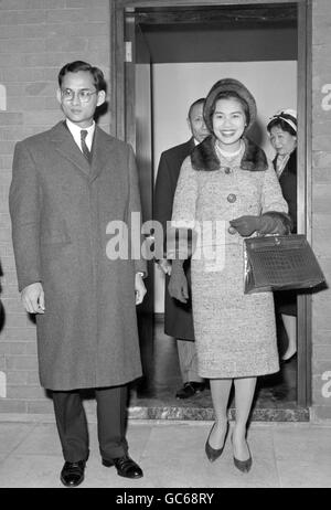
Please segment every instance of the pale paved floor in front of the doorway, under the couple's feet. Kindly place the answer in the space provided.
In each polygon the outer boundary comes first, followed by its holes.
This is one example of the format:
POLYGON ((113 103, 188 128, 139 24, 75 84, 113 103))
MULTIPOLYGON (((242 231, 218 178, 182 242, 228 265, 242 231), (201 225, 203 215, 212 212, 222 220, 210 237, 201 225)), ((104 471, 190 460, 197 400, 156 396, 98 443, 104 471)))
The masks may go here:
MULTIPOLYGON (((331 488, 331 427, 308 423, 253 423, 248 442, 249 474, 233 464, 227 440, 211 464, 204 443, 211 422, 131 419, 130 455, 143 478, 127 480, 100 464, 96 424, 89 423, 90 457, 85 481, 90 488, 331 488)), ((0 487, 60 488, 63 465, 53 423, 0 422, 0 487)))

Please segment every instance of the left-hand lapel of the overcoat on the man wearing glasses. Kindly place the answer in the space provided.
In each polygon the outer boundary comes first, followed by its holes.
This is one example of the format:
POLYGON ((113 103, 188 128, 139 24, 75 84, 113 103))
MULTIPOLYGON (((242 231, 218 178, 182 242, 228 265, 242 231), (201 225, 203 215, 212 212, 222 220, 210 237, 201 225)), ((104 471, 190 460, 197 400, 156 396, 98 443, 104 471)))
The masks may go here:
POLYGON ((56 124, 52 132, 52 141, 55 149, 66 159, 68 159, 76 168, 78 168, 85 177, 90 177, 90 167, 77 147, 72 134, 63 121, 56 124))

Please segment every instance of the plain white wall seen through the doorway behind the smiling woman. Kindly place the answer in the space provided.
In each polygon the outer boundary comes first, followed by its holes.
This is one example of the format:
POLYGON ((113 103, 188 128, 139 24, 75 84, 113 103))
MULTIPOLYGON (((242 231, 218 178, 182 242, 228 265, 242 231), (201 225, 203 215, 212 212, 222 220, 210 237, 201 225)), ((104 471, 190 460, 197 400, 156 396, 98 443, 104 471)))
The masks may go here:
MULTIPOLYGON (((153 164, 157 177, 163 150, 186 141, 188 109, 199 97, 205 97, 215 82, 233 77, 243 82, 257 104, 257 123, 252 138, 260 142, 268 157, 274 152, 265 126, 280 108, 296 108, 297 62, 221 62, 190 64, 153 64, 153 164)), ((154 311, 163 312, 164 279, 156 269, 154 311)))

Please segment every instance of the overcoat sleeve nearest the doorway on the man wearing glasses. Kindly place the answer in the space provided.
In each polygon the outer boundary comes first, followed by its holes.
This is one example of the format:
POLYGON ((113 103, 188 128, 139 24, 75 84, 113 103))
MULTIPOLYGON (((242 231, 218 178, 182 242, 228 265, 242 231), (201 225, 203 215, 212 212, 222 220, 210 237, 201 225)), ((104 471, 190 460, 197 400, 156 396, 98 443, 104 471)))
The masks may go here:
POLYGON ((136 273, 141 272, 147 276, 147 263, 141 255, 142 246, 142 234, 141 234, 141 202, 140 202, 140 191, 138 183, 138 171, 136 164, 136 158, 134 150, 129 147, 128 155, 128 172, 129 172, 129 199, 128 199, 128 210, 127 210, 127 222, 129 230, 129 237, 132 240, 130 243, 131 256, 135 263, 136 273), (139 230, 139 232, 138 232, 139 230), (140 240, 140 243, 136 243, 136 240, 140 240), (139 249, 138 249, 139 245, 139 249))

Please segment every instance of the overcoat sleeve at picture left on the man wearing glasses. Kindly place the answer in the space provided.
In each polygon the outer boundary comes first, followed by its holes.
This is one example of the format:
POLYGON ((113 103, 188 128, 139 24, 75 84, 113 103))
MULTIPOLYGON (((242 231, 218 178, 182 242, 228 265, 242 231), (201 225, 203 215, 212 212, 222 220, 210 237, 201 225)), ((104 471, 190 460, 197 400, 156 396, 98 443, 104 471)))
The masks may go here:
POLYGON ((24 145, 15 145, 9 191, 12 242, 19 290, 42 281, 40 257, 41 191, 33 158, 24 145))

